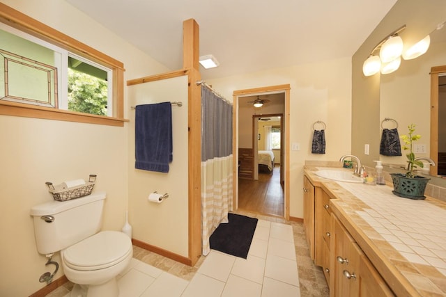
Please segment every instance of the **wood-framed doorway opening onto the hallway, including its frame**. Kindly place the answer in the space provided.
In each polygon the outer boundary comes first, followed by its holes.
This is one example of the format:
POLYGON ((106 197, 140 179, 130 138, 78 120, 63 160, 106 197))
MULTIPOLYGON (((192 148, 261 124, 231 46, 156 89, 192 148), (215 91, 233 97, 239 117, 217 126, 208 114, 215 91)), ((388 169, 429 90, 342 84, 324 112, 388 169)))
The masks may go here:
POLYGON ((289 85, 237 90, 233 93, 233 106, 233 152, 235 168, 238 168, 233 178, 235 208, 289 219, 289 152, 286 150, 289 143, 289 85), (255 99, 266 103, 261 109, 254 110, 252 105, 255 99), (243 109, 252 109, 248 118, 239 116, 243 109), (279 162, 275 162, 271 170, 259 170, 258 123, 272 119, 272 115, 281 117, 279 162), (250 203, 246 200, 249 197, 253 198, 250 203))

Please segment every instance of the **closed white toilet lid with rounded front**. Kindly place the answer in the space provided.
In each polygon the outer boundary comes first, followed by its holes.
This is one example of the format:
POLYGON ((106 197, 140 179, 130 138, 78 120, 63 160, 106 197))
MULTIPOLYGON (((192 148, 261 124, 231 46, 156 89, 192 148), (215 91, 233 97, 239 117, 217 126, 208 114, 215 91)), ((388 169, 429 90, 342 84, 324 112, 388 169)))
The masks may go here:
POLYGON ((132 252, 130 238, 117 231, 103 231, 63 250, 63 261, 76 270, 113 266, 132 252))

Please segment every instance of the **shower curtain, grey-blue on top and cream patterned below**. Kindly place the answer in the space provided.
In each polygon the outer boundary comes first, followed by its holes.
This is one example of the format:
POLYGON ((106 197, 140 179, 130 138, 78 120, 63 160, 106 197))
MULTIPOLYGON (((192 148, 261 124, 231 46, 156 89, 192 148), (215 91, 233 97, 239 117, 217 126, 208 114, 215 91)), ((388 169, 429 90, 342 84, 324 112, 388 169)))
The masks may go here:
POLYGON ((232 205, 232 106, 201 85, 201 239, 203 255, 209 237, 220 223, 228 223, 232 205))

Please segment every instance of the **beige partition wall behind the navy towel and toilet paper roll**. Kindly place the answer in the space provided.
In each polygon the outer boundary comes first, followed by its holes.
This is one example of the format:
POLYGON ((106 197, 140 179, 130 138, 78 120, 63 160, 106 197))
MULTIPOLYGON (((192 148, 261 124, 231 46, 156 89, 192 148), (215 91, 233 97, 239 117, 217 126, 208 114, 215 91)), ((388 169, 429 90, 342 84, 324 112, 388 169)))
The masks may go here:
MULTIPOLYGON (((129 132, 128 177, 129 216, 133 238, 152 246, 188 257, 187 191, 187 77, 164 79, 128 87, 132 106, 180 101, 172 106, 173 161, 169 172, 151 172, 134 168, 134 133, 129 132), (160 204, 148 202, 150 193, 169 193, 160 204)), ((129 115, 134 131, 134 111, 129 115)))

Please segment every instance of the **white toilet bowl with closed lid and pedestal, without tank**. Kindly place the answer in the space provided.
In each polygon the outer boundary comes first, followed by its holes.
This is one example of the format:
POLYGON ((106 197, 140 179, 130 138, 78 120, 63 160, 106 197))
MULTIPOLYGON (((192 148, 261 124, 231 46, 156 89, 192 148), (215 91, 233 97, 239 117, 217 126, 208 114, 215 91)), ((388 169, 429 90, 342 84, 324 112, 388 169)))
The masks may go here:
POLYGON ((62 250, 61 260, 68 280, 83 285, 86 296, 118 296, 116 275, 130 264, 132 255, 126 234, 103 231, 62 250))

